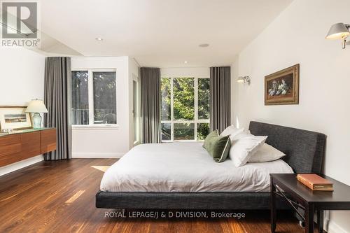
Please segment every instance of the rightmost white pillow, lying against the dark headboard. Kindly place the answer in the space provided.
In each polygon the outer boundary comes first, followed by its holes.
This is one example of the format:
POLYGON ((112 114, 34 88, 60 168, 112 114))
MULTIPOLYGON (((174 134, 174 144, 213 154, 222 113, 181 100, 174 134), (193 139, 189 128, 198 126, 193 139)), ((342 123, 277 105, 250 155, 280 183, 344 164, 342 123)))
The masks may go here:
POLYGON ((278 160, 285 155, 286 154, 277 150, 273 146, 269 146, 269 144, 264 143, 262 147, 251 156, 248 162, 269 162, 278 160))

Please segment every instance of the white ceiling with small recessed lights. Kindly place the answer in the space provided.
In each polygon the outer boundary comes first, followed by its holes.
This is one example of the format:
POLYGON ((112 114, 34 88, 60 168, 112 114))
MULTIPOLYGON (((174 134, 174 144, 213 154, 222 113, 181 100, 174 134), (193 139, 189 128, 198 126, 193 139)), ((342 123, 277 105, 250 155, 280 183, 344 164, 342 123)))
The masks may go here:
POLYGON ((41 31, 85 56, 128 55, 141 66, 222 66, 291 1, 42 0, 41 31))

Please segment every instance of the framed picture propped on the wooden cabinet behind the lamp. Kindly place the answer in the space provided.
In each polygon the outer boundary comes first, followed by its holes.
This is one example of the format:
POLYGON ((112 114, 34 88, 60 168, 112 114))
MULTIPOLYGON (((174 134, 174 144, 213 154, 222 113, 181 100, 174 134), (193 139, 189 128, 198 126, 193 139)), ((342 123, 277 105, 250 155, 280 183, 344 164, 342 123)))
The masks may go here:
POLYGON ((30 113, 25 113, 26 108, 27 106, 0 106, 0 130, 32 129, 33 122, 30 113), (6 115, 8 115, 7 119, 6 115))

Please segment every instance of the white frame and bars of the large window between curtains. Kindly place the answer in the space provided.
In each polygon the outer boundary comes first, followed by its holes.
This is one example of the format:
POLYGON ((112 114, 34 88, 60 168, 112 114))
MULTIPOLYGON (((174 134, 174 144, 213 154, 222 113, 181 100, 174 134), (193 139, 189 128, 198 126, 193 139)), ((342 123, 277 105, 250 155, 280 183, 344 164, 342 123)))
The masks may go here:
MULTIPOLYGON (((172 141, 204 141, 204 140, 198 140, 197 139, 197 124, 198 123, 209 123, 210 124, 210 118, 209 119, 198 119, 198 80, 201 78, 207 78, 209 77, 193 77, 193 76, 176 76, 176 77, 161 77, 161 78, 170 78, 170 120, 160 120, 160 124, 170 124, 170 130, 171 130, 171 140, 162 140, 162 142, 172 142, 172 141), (195 89, 195 119, 194 120, 174 120, 174 78, 194 78, 194 89, 195 89), (176 123, 193 123, 195 125, 195 139, 193 140, 174 140, 174 124, 176 123)), ((162 100, 161 100, 162 101, 162 100)), ((162 113, 160 113, 162 114, 162 113)))

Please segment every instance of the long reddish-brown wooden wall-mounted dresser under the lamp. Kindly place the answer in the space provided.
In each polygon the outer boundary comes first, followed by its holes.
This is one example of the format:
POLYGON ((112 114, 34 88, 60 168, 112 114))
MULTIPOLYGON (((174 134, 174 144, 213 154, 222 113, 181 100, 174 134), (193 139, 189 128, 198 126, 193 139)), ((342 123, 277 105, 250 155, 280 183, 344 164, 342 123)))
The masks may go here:
POLYGON ((56 150, 56 129, 25 129, 0 134, 0 167, 56 150))

